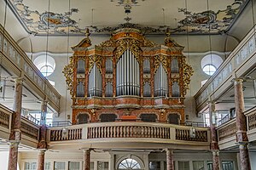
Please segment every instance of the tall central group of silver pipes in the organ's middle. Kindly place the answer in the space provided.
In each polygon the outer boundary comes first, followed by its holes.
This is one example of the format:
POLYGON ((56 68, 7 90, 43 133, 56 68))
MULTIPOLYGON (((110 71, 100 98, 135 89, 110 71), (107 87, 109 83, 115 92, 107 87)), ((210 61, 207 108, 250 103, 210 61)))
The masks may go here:
POLYGON ((130 50, 120 57, 116 71, 117 96, 137 95, 140 91, 139 64, 130 50))

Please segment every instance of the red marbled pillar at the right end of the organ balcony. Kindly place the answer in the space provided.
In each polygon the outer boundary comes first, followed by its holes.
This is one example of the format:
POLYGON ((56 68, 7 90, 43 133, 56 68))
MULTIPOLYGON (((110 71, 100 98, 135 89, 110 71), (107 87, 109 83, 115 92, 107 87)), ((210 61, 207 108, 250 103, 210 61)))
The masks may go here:
POLYGON ((211 129, 211 150, 212 150, 212 168, 213 170, 219 170, 219 148, 218 148, 218 139, 217 139, 217 131, 216 125, 213 124, 213 117, 215 111, 215 104, 209 103, 209 115, 210 115, 210 129, 211 129))

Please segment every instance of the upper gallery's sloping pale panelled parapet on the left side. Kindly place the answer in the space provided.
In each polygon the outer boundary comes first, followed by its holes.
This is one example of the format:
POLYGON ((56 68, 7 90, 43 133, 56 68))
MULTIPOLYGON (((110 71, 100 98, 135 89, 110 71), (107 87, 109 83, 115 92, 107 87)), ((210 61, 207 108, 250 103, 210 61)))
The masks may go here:
POLYGON ((60 110, 61 94, 49 83, 42 75, 38 68, 32 63, 32 60, 27 57, 25 52, 10 37, 9 33, 0 25, 0 54, 2 55, 1 65, 9 68, 18 77, 24 73, 26 85, 32 88, 41 99, 47 96, 49 105, 55 111, 60 110))

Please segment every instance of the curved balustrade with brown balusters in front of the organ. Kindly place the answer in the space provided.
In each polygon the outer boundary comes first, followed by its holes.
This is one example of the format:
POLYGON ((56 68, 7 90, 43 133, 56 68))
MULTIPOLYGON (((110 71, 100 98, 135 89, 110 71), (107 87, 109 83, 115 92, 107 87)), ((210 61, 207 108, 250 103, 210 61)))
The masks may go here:
MULTIPOLYGON (((172 125, 166 123, 150 122, 104 122, 73 125, 68 127, 49 127, 49 144, 55 141, 88 140, 90 142, 103 140, 109 142, 112 139, 132 139, 133 141, 145 139, 150 142, 162 140, 164 143, 186 144, 201 142, 209 144, 210 131, 207 127, 193 127, 195 137, 191 136, 192 127, 172 125), (96 140, 95 140, 96 139, 96 140)), ((52 144, 52 143, 51 143, 52 144)))

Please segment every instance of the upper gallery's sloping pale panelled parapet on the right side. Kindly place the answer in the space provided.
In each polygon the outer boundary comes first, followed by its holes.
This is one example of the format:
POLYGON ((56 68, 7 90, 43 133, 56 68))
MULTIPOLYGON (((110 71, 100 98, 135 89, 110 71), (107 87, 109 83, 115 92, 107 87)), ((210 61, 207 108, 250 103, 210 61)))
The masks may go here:
POLYGON ((197 111, 201 111, 207 105, 209 96, 214 96, 212 100, 218 99, 225 90, 232 87, 231 80, 236 77, 243 77, 247 71, 251 71, 255 65, 255 27, 247 33, 247 36, 224 60, 218 70, 208 79, 203 87, 195 94, 197 111), (236 77, 232 75, 236 72, 236 77), (221 88, 220 88, 221 87, 221 88))

